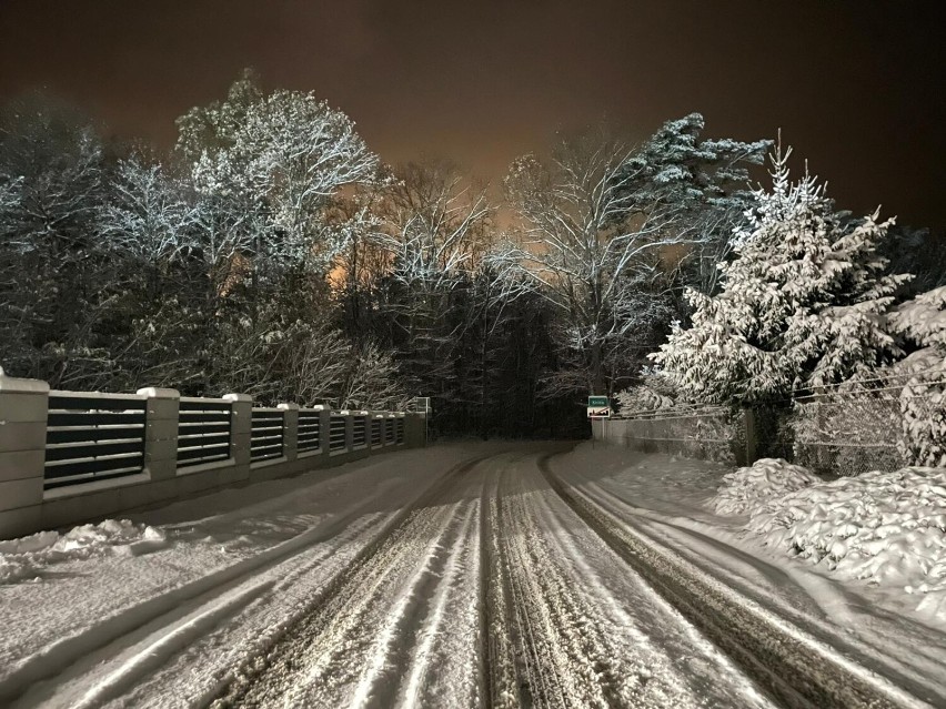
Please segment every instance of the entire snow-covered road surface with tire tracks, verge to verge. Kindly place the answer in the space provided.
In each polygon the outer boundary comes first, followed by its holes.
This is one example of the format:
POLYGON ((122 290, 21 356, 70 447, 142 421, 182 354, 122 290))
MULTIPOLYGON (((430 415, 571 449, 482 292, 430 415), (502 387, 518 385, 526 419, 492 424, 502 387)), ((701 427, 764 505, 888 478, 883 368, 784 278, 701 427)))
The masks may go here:
POLYGON ((946 634, 728 539, 700 513, 722 470, 657 487, 570 448, 437 446, 135 517, 168 545, 0 585, 0 706, 946 706, 946 634))

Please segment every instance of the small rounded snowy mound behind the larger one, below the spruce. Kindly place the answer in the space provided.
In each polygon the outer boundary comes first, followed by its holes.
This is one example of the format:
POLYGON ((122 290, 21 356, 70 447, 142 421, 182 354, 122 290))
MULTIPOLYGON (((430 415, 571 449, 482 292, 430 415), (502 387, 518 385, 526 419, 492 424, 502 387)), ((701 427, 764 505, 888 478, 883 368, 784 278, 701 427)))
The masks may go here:
POLYGON ((819 482, 806 468, 783 458, 761 458, 751 467, 724 475, 713 502, 721 515, 741 515, 819 482))

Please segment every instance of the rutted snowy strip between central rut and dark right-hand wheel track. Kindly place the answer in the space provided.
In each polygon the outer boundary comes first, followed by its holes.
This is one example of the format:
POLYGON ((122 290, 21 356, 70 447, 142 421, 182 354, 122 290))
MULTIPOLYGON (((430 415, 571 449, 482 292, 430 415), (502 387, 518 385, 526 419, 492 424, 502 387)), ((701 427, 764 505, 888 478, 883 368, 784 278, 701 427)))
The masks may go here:
POLYGON ((769 706, 549 489, 535 456, 500 498, 524 705, 769 706))

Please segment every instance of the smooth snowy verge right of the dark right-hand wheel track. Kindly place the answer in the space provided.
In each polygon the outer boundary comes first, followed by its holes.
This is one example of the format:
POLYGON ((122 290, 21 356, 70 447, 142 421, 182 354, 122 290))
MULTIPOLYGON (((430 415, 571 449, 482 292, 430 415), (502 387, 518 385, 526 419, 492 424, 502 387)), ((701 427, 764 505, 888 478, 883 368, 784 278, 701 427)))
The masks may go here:
MULTIPOLYGON (((746 478, 765 480, 772 466, 761 465, 732 480, 731 469, 722 464, 601 444, 583 444, 553 458, 552 466, 654 547, 802 628, 813 641, 836 648, 934 705, 946 701, 946 618, 930 612, 903 586, 870 584, 828 565, 812 566, 791 545, 766 545, 765 537, 747 527, 748 515, 715 512, 717 505, 725 508, 755 498, 745 489, 746 478), (727 474, 732 484, 718 496, 727 474)), ((804 488, 799 480, 778 480, 758 504, 797 510, 783 489, 786 485, 804 488)))

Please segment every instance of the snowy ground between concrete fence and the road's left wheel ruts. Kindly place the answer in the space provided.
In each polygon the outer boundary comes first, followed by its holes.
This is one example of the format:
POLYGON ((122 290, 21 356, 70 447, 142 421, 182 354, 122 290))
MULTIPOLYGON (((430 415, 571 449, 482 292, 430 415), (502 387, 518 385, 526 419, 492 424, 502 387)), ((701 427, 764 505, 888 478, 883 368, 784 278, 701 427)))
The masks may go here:
POLYGON ((494 449, 406 450, 198 497, 137 515, 138 526, 105 523, 124 534, 87 551, 51 553, 92 529, 51 547, 50 534, 4 543, 19 570, 0 585, 0 706, 27 689, 14 706, 201 703, 402 507, 494 449), (130 553, 155 533, 161 548, 130 553))

